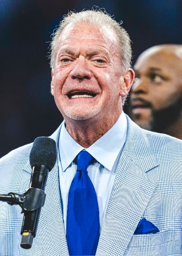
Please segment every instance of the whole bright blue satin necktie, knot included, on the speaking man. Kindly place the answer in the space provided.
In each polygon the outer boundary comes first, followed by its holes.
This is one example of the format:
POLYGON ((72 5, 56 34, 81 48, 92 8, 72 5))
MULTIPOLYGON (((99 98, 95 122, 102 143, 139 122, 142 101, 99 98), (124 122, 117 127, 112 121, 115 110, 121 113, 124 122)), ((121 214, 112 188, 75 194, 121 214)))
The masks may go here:
POLYGON ((66 238, 70 255, 95 255, 99 241, 99 208, 87 167, 87 151, 77 156, 77 171, 68 195, 66 238))

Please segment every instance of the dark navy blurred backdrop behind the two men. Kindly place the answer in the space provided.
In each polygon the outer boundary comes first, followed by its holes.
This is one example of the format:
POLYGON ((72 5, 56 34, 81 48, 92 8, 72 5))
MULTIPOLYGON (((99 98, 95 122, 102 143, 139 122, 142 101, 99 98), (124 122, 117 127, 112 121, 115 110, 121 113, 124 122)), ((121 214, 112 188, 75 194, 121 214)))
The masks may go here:
POLYGON ((94 5, 123 21, 133 64, 150 46, 182 44, 182 0, 0 0, 0 157, 63 120, 50 94, 48 42, 68 10, 94 5))

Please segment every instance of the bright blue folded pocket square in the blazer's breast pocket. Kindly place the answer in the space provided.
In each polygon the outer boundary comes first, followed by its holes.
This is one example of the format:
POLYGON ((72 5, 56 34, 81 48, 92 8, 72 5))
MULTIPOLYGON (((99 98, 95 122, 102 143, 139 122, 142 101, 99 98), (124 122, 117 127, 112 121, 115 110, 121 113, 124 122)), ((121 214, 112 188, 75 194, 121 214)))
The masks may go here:
POLYGON ((159 232, 159 229, 153 223, 143 218, 138 223, 134 235, 155 234, 157 232, 159 232))

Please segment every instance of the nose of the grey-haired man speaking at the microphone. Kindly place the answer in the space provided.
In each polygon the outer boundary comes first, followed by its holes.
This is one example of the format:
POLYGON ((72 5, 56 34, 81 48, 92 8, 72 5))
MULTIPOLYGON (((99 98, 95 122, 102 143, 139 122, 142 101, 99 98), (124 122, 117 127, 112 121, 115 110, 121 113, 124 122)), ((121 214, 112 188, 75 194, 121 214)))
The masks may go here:
POLYGON ((70 75, 73 79, 91 79, 92 74, 84 56, 79 56, 79 58, 76 60, 75 66, 70 72, 70 75))

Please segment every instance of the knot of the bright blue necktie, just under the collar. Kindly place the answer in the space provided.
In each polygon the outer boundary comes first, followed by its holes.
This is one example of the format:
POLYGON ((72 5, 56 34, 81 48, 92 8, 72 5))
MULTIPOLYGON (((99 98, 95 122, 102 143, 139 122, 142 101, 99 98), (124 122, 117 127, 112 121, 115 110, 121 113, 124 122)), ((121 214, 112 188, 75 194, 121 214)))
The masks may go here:
POLYGON ((87 170, 92 161, 92 156, 87 151, 81 151, 77 155, 77 171, 87 170))

